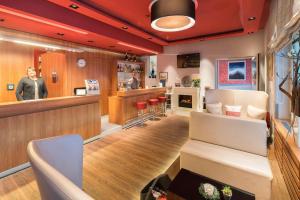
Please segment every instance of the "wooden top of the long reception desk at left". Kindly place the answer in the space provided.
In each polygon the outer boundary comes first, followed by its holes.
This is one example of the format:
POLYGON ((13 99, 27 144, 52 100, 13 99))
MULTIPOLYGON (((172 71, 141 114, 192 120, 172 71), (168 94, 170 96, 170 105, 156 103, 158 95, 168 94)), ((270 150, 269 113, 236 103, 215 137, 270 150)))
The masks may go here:
POLYGON ((99 95, 66 96, 0 103, 0 118, 99 102, 99 95))

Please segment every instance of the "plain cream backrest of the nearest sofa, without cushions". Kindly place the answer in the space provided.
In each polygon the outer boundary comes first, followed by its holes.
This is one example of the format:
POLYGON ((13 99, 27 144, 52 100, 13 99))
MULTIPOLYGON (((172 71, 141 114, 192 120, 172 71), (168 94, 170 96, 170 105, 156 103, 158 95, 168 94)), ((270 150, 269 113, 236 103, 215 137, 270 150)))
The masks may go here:
POLYGON ((189 137, 193 140, 267 156, 264 120, 191 112, 189 137))

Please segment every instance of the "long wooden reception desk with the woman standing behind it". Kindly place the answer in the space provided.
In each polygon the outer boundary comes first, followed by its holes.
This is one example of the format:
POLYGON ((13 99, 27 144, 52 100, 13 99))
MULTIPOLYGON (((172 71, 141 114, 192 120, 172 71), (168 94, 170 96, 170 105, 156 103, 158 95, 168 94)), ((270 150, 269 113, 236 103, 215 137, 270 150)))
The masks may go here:
POLYGON ((31 140, 75 133, 83 139, 99 135, 99 98, 70 96, 1 103, 0 176, 28 162, 26 149, 31 140))

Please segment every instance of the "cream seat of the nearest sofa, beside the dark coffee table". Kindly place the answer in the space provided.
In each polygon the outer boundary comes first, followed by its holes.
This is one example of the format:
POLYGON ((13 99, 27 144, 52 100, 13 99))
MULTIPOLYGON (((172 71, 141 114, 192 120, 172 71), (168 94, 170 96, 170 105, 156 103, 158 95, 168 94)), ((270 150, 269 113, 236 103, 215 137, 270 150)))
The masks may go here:
POLYGON ((271 199, 273 176, 264 156, 189 140, 180 151, 180 167, 254 193, 257 200, 271 199))

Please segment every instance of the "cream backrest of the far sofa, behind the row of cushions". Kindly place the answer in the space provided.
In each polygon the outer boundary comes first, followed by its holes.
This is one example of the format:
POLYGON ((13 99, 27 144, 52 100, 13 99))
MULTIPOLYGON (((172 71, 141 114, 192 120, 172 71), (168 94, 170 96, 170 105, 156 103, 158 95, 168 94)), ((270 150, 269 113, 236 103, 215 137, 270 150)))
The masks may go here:
POLYGON ((220 90, 210 89, 205 92, 206 103, 221 102, 224 105, 240 105, 242 106, 241 116, 247 116, 247 107, 254 107, 267 111, 268 94, 255 90, 220 90))

